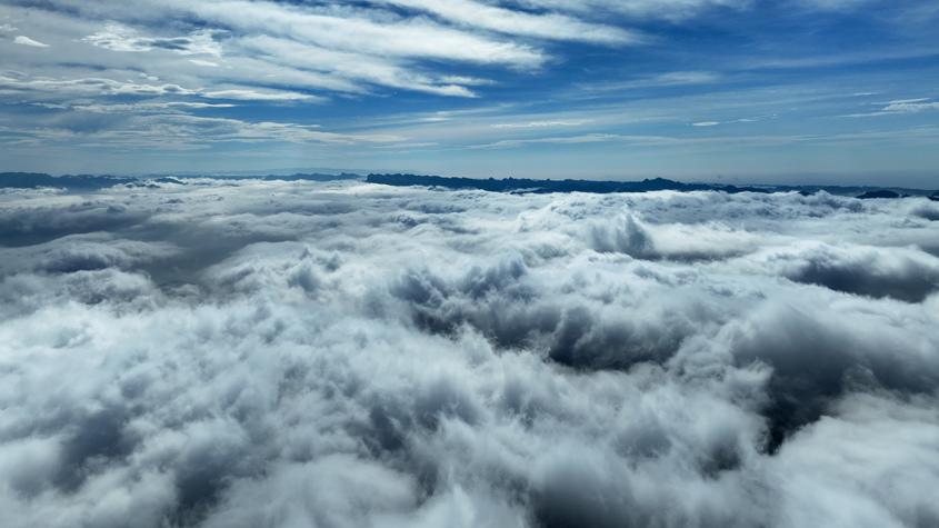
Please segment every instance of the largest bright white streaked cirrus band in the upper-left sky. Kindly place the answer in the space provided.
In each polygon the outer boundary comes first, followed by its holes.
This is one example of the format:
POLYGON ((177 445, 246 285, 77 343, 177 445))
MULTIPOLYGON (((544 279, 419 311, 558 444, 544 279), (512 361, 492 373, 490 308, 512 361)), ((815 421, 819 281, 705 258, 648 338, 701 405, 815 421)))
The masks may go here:
MULTIPOLYGON (((469 87, 488 80, 452 71, 438 73, 421 62, 527 70, 540 67, 548 59, 535 43, 438 23, 424 17, 392 16, 383 9, 236 0, 140 1, 136 6, 136 10, 104 10, 101 4, 56 0, 41 9, 27 6, 9 9, 17 19, 29 14, 30 20, 42 22, 49 30, 58 26, 77 33, 80 28, 88 28, 90 31, 76 38, 101 51, 82 54, 81 63, 131 64, 130 59, 119 54, 147 54, 148 60, 142 64, 148 73, 173 79, 177 84, 191 84, 187 81, 192 80, 260 82, 280 89, 347 93, 363 93, 380 87, 473 97, 469 87), (172 56, 188 58, 173 60, 172 56), (180 60, 191 66, 173 68, 180 60), (197 72, 192 67, 216 71, 197 72)), ((50 60, 49 67, 53 64, 50 60)))

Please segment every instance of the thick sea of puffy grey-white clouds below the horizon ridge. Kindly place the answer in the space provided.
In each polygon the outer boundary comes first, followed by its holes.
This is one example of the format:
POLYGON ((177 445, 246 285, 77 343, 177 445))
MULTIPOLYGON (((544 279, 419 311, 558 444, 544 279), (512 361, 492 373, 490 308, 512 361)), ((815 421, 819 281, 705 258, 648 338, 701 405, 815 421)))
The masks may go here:
POLYGON ((925 199, 182 183, 0 195, 6 526, 939 520, 925 199))

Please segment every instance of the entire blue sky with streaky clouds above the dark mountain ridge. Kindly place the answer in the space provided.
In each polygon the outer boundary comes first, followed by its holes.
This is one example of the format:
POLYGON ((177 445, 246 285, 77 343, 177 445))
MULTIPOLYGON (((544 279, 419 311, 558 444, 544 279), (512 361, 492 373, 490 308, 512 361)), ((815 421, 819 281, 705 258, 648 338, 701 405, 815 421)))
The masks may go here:
POLYGON ((939 187, 939 1, 0 6, 0 170, 939 187))

